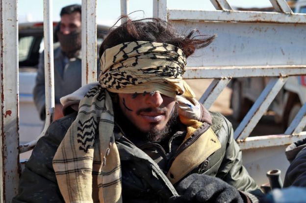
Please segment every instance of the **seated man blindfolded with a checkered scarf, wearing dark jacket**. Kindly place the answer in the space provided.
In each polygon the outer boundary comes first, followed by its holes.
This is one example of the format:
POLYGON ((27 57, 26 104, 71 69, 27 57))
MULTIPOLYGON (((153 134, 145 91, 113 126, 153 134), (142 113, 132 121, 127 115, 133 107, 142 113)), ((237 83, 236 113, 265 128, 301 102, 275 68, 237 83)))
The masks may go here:
POLYGON ((182 79, 213 39, 157 19, 111 31, 99 83, 61 99, 67 115, 38 141, 15 201, 258 202, 231 124, 182 79))

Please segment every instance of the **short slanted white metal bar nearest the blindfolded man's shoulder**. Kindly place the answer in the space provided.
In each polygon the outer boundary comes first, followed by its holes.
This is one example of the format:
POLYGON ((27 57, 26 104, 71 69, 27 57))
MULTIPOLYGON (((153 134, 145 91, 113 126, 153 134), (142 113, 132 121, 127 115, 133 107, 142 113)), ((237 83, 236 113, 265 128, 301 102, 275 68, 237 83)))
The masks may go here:
POLYGON ((230 80, 231 78, 214 79, 199 99, 199 102, 203 103, 206 109, 209 109, 222 90, 227 87, 230 80))

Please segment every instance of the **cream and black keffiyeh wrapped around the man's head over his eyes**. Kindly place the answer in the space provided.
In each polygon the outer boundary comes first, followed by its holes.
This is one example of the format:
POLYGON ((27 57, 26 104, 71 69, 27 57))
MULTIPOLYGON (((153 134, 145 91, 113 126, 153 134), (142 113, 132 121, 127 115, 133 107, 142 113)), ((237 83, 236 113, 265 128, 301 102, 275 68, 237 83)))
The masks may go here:
POLYGON ((186 57, 177 46, 135 41, 116 45, 101 57, 102 88, 116 93, 160 92, 195 97, 182 80, 186 57))

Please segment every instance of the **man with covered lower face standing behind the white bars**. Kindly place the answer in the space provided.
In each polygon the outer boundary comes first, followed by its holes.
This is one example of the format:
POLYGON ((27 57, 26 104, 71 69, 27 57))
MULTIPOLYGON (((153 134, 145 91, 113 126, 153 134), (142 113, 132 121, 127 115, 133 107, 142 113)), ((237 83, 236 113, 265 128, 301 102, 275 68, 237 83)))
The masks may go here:
MULTIPOLYGON (((54 120, 63 117, 59 99, 81 87, 81 5, 73 4, 62 8, 61 21, 55 36, 54 46, 54 120)), ((34 101, 40 118, 45 120, 45 68, 44 53, 38 64, 34 101)))

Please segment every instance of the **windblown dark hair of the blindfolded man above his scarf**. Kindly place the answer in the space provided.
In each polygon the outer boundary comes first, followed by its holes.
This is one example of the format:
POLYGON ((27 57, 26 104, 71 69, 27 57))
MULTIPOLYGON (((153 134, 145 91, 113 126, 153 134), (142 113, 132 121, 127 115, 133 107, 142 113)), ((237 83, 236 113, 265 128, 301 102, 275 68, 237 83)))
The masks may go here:
POLYGON ((199 31, 194 29, 186 36, 179 35, 170 23, 160 19, 147 18, 132 21, 127 18, 126 23, 113 29, 102 42, 99 56, 101 58, 103 52, 107 48, 125 42, 148 41, 178 46, 183 50, 186 57, 188 57, 193 54, 196 49, 204 48, 209 45, 215 38, 215 35, 195 35, 195 33, 199 33, 199 31))

